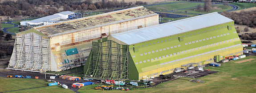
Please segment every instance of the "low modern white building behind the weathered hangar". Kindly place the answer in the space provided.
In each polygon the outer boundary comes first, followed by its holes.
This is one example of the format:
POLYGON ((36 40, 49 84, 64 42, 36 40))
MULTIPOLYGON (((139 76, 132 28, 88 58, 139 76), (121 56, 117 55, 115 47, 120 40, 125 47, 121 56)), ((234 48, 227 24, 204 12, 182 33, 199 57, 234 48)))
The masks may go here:
POLYGON ((42 18, 34 19, 34 20, 29 20, 29 21, 21 21, 20 25, 22 26, 41 26, 45 24, 53 24, 60 22, 59 20, 61 19, 69 19, 75 16, 74 12, 70 11, 65 11, 65 12, 59 12, 54 15, 49 15, 45 16, 42 18))

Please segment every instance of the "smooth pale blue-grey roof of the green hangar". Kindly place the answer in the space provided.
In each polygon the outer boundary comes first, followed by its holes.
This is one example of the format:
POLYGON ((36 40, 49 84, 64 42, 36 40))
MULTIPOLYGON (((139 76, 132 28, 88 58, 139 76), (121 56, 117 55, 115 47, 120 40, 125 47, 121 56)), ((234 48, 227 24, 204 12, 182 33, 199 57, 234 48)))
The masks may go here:
POLYGON ((131 45, 232 21, 232 19, 220 15, 217 12, 213 12, 151 27, 140 28, 133 31, 126 31, 111 36, 131 45))

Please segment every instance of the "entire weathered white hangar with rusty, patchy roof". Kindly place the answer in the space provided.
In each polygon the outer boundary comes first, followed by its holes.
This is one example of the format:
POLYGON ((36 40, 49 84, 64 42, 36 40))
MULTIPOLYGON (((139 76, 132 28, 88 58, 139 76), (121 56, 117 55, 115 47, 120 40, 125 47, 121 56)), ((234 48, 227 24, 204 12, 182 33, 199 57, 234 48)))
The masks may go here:
POLYGON ((33 27, 16 34, 8 69, 61 71, 83 66, 91 41, 159 24, 143 6, 33 27))

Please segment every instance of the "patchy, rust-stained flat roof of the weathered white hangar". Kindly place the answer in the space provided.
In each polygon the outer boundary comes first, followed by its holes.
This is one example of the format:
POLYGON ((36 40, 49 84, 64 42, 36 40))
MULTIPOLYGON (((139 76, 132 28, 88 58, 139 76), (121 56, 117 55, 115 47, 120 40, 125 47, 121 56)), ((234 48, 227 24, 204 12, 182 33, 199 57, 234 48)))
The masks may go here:
POLYGON ((110 23, 118 23, 121 21, 139 19, 141 17, 147 17, 152 15, 158 15, 143 6, 135 8, 127 8, 114 12, 103 13, 99 15, 92 15, 79 19, 72 19, 61 23, 49 24, 44 26, 35 27, 37 31, 49 36, 63 35, 76 31, 81 31, 97 26, 109 25, 110 23))

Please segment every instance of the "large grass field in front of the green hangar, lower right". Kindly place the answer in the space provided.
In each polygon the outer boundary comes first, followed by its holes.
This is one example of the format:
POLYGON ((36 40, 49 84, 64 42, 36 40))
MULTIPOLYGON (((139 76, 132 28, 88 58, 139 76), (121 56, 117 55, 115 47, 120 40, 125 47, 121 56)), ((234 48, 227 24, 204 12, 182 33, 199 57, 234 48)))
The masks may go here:
MULTIPOLYGON (((250 56, 248 58, 255 58, 250 56)), ((237 64, 236 61, 222 63, 220 67, 209 66, 207 69, 219 70, 219 73, 200 77, 205 83, 192 83, 191 78, 180 78, 174 81, 164 82, 147 89, 130 90, 132 93, 253 93, 256 91, 256 60, 237 64)), ((93 89, 97 85, 89 85, 78 90, 84 92, 103 92, 93 89)), ((121 92, 121 90, 110 90, 104 92, 121 92)))

